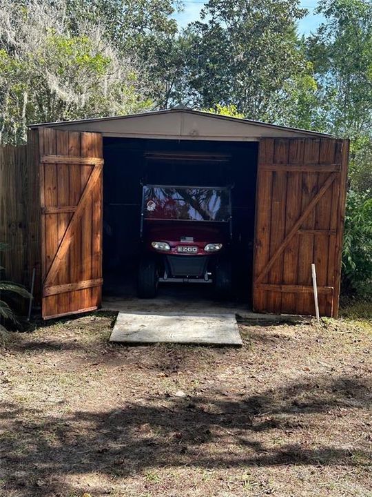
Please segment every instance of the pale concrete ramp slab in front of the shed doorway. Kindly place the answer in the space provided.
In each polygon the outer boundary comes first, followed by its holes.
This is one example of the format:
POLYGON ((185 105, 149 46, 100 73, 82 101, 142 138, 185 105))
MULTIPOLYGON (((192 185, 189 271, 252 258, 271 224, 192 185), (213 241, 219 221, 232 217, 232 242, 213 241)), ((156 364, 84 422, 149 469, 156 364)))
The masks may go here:
POLYGON ((242 345, 235 314, 119 312, 110 342, 242 345))

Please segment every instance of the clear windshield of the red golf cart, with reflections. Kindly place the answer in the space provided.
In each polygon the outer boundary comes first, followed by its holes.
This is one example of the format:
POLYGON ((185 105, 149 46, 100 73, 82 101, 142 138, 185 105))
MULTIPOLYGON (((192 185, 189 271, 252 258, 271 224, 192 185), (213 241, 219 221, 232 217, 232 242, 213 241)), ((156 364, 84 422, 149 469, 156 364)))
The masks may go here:
POLYGON ((143 217, 147 220, 229 222, 229 188, 143 186, 143 217))

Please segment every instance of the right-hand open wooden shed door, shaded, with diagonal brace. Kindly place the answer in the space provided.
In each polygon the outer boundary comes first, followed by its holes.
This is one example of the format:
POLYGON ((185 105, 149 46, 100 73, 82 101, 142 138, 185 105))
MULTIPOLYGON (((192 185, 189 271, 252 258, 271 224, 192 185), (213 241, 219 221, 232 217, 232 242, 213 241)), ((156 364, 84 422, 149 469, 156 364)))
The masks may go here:
POLYGON ((260 141, 254 244, 254 309, 338 315, 349 142, 260 141))

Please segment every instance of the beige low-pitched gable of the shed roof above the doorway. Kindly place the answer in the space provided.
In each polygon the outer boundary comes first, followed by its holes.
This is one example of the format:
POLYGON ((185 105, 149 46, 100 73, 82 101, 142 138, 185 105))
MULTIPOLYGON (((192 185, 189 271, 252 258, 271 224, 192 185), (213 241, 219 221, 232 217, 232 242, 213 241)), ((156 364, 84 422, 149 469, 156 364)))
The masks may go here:
POLYGON ((69 131, 93 131, 107 137, 197 139, 256 142, 261 137, 330 137, 326 133, 288 128, 250 119, 240 119, 191 109, 154 112, 94 119, 77 119, 32 124, 30 128, 59 128, 69 131))

